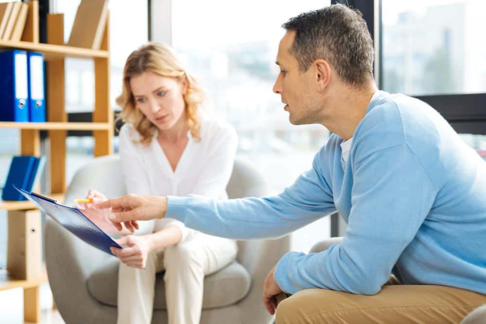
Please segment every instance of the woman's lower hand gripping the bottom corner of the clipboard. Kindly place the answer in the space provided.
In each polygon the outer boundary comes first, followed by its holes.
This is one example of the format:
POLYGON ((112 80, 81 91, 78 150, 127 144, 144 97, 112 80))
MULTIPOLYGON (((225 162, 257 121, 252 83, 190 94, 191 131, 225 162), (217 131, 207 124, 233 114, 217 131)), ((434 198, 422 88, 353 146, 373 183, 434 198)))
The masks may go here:
POLYGON ((111 253, 120 258, 121 262, 129 267, 144 269, 147 256, 152 251, 152 242, 148 235, 127 235, 121 239, 115 239, 120 246, 128 247, 120 249, 111 247, 111 253))

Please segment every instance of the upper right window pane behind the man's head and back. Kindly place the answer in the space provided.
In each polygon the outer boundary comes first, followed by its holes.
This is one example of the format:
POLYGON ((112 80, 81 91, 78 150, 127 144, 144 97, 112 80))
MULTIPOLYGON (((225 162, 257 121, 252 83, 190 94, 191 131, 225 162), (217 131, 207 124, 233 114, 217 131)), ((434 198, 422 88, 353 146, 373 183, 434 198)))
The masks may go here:
POLYGON ((382 0, 383 90, 486 91, 484 0, 382 0))

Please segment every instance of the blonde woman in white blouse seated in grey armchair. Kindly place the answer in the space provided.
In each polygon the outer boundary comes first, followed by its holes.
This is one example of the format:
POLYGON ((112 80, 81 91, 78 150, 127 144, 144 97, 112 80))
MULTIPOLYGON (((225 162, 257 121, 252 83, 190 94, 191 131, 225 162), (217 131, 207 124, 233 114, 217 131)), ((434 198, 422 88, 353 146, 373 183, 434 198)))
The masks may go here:
MULTIPOLYGON (((121 168, 128 193, 225 199, 237 148, 229 124, 202 114, 203 91, 169 46, 149 43, 128 57, 117 98, 121 168)), ((90 190, 93 203, 106 199, 90 190)), ((236 243, 162 219, 139 222, 134 235, 85 204, 87 217, 116 239, 120 258, 118 323, 151 323, 156 273, 165 270, 169 323, 199 323, 204 276, 232 262, 236 243)))

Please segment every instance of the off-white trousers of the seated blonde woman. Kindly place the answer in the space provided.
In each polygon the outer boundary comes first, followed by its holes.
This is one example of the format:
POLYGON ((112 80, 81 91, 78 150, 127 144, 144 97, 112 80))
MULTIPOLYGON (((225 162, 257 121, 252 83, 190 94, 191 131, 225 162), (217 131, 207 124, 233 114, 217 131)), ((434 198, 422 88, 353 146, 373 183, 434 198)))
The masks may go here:
POLYGON ((236 242, 197 233, 192 239, 149 253, 144 270, 120 262, 118 324, 150 324, 156 273, 165 269, 169 324, 197 324, 203 304, 204 276, 231 263, 236 242))

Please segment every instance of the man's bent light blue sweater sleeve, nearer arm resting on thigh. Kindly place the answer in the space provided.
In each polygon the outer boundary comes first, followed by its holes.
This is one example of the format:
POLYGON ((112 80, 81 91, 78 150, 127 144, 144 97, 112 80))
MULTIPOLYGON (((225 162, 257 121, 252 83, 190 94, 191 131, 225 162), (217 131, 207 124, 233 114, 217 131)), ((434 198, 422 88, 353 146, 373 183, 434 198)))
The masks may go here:
POLYGON ((435 197, 427 172, 403 142, 370 151, 364 144, 362 157, 355 156, 347 235, 321 253, 283 256, 274 272, 283 291, 323 288, 373 295, 416 236, 435 197))

